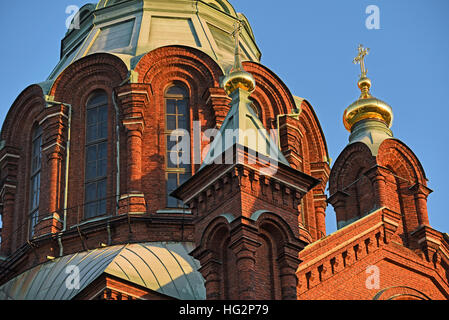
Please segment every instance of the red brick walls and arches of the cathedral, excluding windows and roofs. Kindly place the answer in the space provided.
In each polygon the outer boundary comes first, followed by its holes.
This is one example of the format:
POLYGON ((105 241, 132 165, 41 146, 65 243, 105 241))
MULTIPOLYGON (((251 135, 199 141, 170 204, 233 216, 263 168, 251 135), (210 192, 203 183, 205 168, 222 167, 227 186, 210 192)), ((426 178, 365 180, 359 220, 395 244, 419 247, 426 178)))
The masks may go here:
MULTIPOLYGON (((104 245, 188 241, 196 245, 192 255, 201 263, 208 299, 372 299, 392 287, 407 287, 406 293, 395 289, 400 296, 419 290, 447 299, 449 243, 429 225, 431 191, 413 152, 393 139, 384 141, 377 156, 353 144, 330 172, 312 106, 305 100, 298 105, 266 67, 254 62, 244 67, 257 83, 251 98, 260 106, 262 123, 279 129, 291 167, 281 165, 267 178, 257 166, 214 165, 198 172, 200 165, 192 164, 193 178, 178 190, 191 213, 165 210, 164 93, 182 84, 189 92, 190 121, 199 121, 203 131, 219 128, 230 98, 220 87, 221 67, 205 53, 181 46, 156 49, 134 67, 135 83, 122 60, 97 53, 65 69, 48 96, 38 85, 24 90, 1 133, 1 254, 7 259, 0 284, 48 257, 104 245), (85 220, 86 104, 96 90, 109 97, 108 215, 85 220), (295 109, 299 115, 290 116, 295 109), (39 223, 29 239, 36 125, 43 128, 42 192, 39 223), (355 221, 328 237, 327 201, 338 222, 355 221), (376 290, 365 286, 373 265, 380 269, 376 290)), ((247 157, 246 151, 238 155, 247 157)), ((166 297, 102 277, 78 298, 166 297)))

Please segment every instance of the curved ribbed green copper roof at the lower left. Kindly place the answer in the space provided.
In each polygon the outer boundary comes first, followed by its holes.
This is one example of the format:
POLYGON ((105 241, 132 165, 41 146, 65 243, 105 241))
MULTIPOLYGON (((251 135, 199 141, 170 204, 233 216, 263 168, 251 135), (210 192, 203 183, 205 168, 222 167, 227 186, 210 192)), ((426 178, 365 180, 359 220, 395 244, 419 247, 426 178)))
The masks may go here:
POLYGON ((0 287, 0 300, 70 300, 103 273, 182 300, 204 300, 199 262, 191 243, 141 243, 101 248, 55 259, 0 287), (66 281, 69 266, 79 269, 79 288, 66 281))

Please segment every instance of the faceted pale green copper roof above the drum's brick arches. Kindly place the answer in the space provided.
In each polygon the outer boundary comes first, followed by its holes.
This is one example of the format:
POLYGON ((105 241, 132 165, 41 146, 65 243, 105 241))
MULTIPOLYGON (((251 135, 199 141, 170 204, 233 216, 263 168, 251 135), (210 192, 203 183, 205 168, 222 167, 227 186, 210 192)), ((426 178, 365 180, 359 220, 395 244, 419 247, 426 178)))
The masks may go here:
MULTIPOLYGON (((62 40, 61 60, 47 80, 54 80, 74 61, 108 52, 131 69, 131 60, 154 49, 183 45, 212 57, 224 72, 232 66, 237 19, 243 21, 240 41, 244 60, 260 61, 254 34, 244 15, 226 0, 101 0, 83 6, 62 40)), ((135 63, 134 63, 135 64, 135 63)), ((45 93, 45 92, 44 92, 45 93)))

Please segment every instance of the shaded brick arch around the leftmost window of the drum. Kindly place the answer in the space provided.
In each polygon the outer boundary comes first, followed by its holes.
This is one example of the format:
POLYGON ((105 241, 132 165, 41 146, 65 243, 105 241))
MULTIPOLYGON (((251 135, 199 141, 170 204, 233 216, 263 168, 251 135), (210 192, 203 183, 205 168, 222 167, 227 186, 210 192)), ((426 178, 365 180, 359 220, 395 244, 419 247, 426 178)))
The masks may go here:
MULTIPOLYGON (((42 88, 32 85, 14 101, 3 124, 0 189, 4 190, 1 198, 3 229, 7 230, 2 234, 3 253, 14 251, 28 238, 32 133, 45 117, 45 111, 42 88)), ((45 169, 44 162, 42 172, 45 169)))

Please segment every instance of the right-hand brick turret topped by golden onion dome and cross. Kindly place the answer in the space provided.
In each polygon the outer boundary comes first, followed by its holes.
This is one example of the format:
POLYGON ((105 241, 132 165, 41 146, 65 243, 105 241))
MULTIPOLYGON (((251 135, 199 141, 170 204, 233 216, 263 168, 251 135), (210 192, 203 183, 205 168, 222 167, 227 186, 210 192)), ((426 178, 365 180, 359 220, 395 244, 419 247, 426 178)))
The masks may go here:
POLYGON ((416 232, 429 226, 427 178, 415 154, 394 138, 392 108, 370 93, 365 57, 369 49, 358 48, 358 87, 361 96, 344 112, 350 131, 349 144, 338 157, 330 175, 329 203, 334 206, 338 228, 381 208, 397 215, 401 242, 418 247, 416 232))

